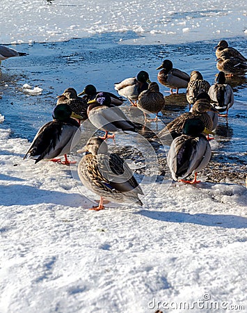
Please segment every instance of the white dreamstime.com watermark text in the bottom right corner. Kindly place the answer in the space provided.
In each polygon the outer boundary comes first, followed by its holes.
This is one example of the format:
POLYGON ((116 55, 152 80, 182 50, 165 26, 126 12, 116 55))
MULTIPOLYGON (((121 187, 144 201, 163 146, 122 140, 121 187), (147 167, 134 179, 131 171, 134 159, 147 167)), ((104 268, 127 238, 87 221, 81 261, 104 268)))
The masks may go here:
MULTIPOLYGON (((212 300, 210 294, 204 294, 196 301, 159 301, 156 298, 148 303, 150 310, 245 310, 244 305, 228 301, 212 300)), ((198 312, 198 311, 196 311, 198 312)))

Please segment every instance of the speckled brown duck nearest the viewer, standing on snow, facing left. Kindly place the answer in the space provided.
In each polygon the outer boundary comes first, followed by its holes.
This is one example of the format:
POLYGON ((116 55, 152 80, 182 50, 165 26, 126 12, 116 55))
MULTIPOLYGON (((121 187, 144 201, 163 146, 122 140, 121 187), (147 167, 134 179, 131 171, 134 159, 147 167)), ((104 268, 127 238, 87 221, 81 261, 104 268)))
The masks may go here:
POLYGON ((100 196, 99 205, 92 210, 104 209, 105 200, 143 205, 138 198, 143 191, 132 170, 118 154, 108 152, 108 145, 102 138, 91 137, 77 152, 86 152, 78 166, 82 184, 100 196))

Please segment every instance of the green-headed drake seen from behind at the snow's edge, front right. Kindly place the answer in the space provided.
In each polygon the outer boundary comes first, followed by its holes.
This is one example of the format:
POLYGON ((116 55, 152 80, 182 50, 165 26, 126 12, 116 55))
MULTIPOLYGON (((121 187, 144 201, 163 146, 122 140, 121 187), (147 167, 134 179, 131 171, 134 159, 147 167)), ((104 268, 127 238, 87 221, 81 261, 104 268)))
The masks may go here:
POLYGON ((198 118, 186 120, 183 125, 182 135, 175 138, 170 145, 167 163, 175 181, 182 180, 189 184, 196 184, 197 172, 203 170, 211 158, 211 147, 207 138, 202 135, 205 125, 198 118), (184 178, 195 175, 192 181, 184 178))

